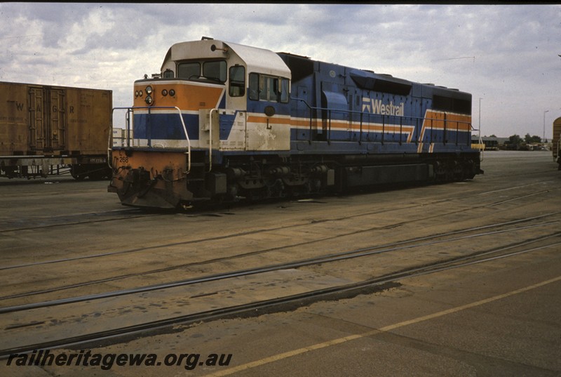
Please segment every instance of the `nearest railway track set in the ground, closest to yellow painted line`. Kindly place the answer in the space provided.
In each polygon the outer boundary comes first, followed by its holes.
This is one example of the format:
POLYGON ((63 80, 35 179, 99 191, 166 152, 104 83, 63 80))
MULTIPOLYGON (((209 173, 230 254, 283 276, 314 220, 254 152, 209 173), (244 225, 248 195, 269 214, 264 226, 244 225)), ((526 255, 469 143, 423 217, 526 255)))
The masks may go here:
MULTIPOLYGON (((0 349, 0 358, 4 359, 14 353, 32 352, 33 350, 53 349, 71 347, 75 345, 86 345, 88 343, 100 343, 107 340, 116 340, 122 336, 138 336, 142 333, 161 331, 163 329, 170 329, 170 326, 177 324, 189 324, 193 322, 208 321, 210 319, 231 317, 232 315, 258 315, 262 312, 271 312, 274 310, 281 310, 287 305, 298 303, 298 305, 309 304, 317 300, 325 300, 328 298, 342 298, 354 296, 365 291, 371 292, 376 289, 384 289, 389 286, 395 286, 401 279, 408 277, 416 277, 419 275, 426 275, 435 272, 442 272, 454 268, 465 267, 473 265, 474 263, 485 263, 499 258, 509 258, 518 256, 522 253, 530 253, 543 249, 558 249, 561 245, 561 232, 551 234, 550 237, 541 237, 540 239, 530 240, 527 242, 520 242, 511 244, 500 249, 492 249, 482 251, 479 253, 462 256, 461 258, 451 258, 447 260, 440 260, 435 263, 430 263, 421 266, 414 266, 405 270, 392 272, 390 274, 373 277, 360 282, 351 282, 348 284, 339 284, 329 286, 323 289, 315 289, 302 293, 293 294, 290 296, 268 298, 264 300, 255 300, 250 303, 241 305, 233 305, 228 307, 219 307, 212 310, 205 310, 202 312, 193 312, 188 315, 176 315, 165 319, 158 319, 155 321, 142 322, 137 324, 130 324, 128 326, 120 326, 114 329, 105 329, 102 331, 94 331, 90 333, 83 333, 78 336, 59 337, 51 340, 41 341, 39 343, 11 345, 10 347, 4 346, 0 349), (541 243, 541 244, 539 244, 541 243), (537 244, 532 246, 532 244, 537 244)), ((348 258, 356 258, 356 256, 347 256, 348 258)), ((332 260, 331 260, 332 261, 332 260)), ((311 261, 300 262, 299 267, 309 265, 311 261)), ((327 260, 315 261, 313 263, 327 263, 327 260)), ((296 265, 287 264, 285 268, 293 268, 296 265)), ((280 267, 280 266, 277 266, 280 267)), ((246 271, 243 273, 263 273, 269 272, 270 268, 263 268, 259 272, 254 270, 252 272, 246 271)), ((214 277, 215 279, 231 279, 236 274, 222 275, 221 277, 214 277)), ((135 294, 138 291, 134 292, 135 294)), ((93 298, 90 298, 90 300, 93 298)), ((59 304, 57 304, 59 305, 59 304)), ((20 308, 21 309, 21 308, 20 308)), ((19 310, 19 309, 18 309, 19 310)), ((3 312, 2 314, 5 314, 3 312)), ((32 327, 38 324, 43 324, 41 321, 32 321, 27 326, 11 326, 4 330, 10 331, 13 329, 21 329, 22 327, 32 327)), ((9 332, 7 333, 9 336, 9 332)))

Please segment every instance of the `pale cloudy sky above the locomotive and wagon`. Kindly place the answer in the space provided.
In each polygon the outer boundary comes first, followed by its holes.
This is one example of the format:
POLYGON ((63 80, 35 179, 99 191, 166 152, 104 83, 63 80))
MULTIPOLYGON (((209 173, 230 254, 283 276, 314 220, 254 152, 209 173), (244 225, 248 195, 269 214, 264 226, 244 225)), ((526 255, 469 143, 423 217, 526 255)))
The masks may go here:
POLYGON ((458 88, 481 135, 551 138, 561 5, 0 3, 0 81, 109 89, 212 37, 458 88), (544 126, 545 119, 545 126, 544 126))

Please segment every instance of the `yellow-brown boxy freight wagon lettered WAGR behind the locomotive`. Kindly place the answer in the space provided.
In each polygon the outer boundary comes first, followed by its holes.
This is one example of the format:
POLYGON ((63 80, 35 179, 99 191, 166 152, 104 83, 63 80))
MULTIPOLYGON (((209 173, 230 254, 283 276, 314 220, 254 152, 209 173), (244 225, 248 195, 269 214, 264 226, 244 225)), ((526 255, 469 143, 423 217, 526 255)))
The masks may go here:
POLYGON ((0 82, 0 93, 0 176, 111 175, 111 91, 0 82))

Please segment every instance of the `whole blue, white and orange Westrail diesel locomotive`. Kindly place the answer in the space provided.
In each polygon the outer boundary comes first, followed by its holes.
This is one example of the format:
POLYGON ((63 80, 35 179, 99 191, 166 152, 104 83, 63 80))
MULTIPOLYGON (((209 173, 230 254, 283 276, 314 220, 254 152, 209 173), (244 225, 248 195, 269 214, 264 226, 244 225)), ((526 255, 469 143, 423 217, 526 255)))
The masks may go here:
MULTIPOLYGON (((125 205, 473 178, 471 94, 205 38, 135 81, 108 190, 125 205)), ((115 111, 115 110, 114 110, 115 111)))

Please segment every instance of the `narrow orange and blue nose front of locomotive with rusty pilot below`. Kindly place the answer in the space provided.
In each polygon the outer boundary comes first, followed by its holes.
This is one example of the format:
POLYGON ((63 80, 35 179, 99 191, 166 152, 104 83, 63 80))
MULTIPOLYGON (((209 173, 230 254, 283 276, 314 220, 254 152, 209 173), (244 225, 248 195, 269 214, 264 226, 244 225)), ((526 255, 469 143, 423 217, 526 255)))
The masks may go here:
POLYGON ((116 192, 124 205, 175 208, 192 198, 186 185, 185 148, 165 145, 166 113, 175 114, 177 88, 169 81, 156 81, 135 83, 130 125, 133 138, 130 145, 112 151, 113 176, 108 191, 116 192))

